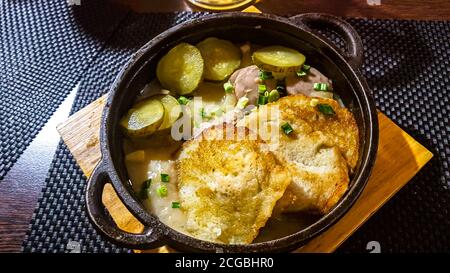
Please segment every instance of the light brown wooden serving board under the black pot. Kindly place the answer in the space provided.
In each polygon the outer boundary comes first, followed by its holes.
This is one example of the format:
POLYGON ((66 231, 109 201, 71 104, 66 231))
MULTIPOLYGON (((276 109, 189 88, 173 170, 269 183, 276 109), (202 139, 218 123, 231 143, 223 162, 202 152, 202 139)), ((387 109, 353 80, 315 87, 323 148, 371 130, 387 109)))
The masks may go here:
MULTIPOLYGON (((99 126, 105 97, 94 101, 58 126, 62 139, 86 176, 101 157, 99 126)), ((384 203, 400 190, 433 156, 425 147, 378 113, 380 141, 372 176, 355 205, 335 225, 296 252, 333 252, 384 203)), ((103 203, 118 226, 139 233, 140 224, 125 208, 111 185, 105 186, 103 203)), ((172 252, 164 247, 150 252, 172 252)))

